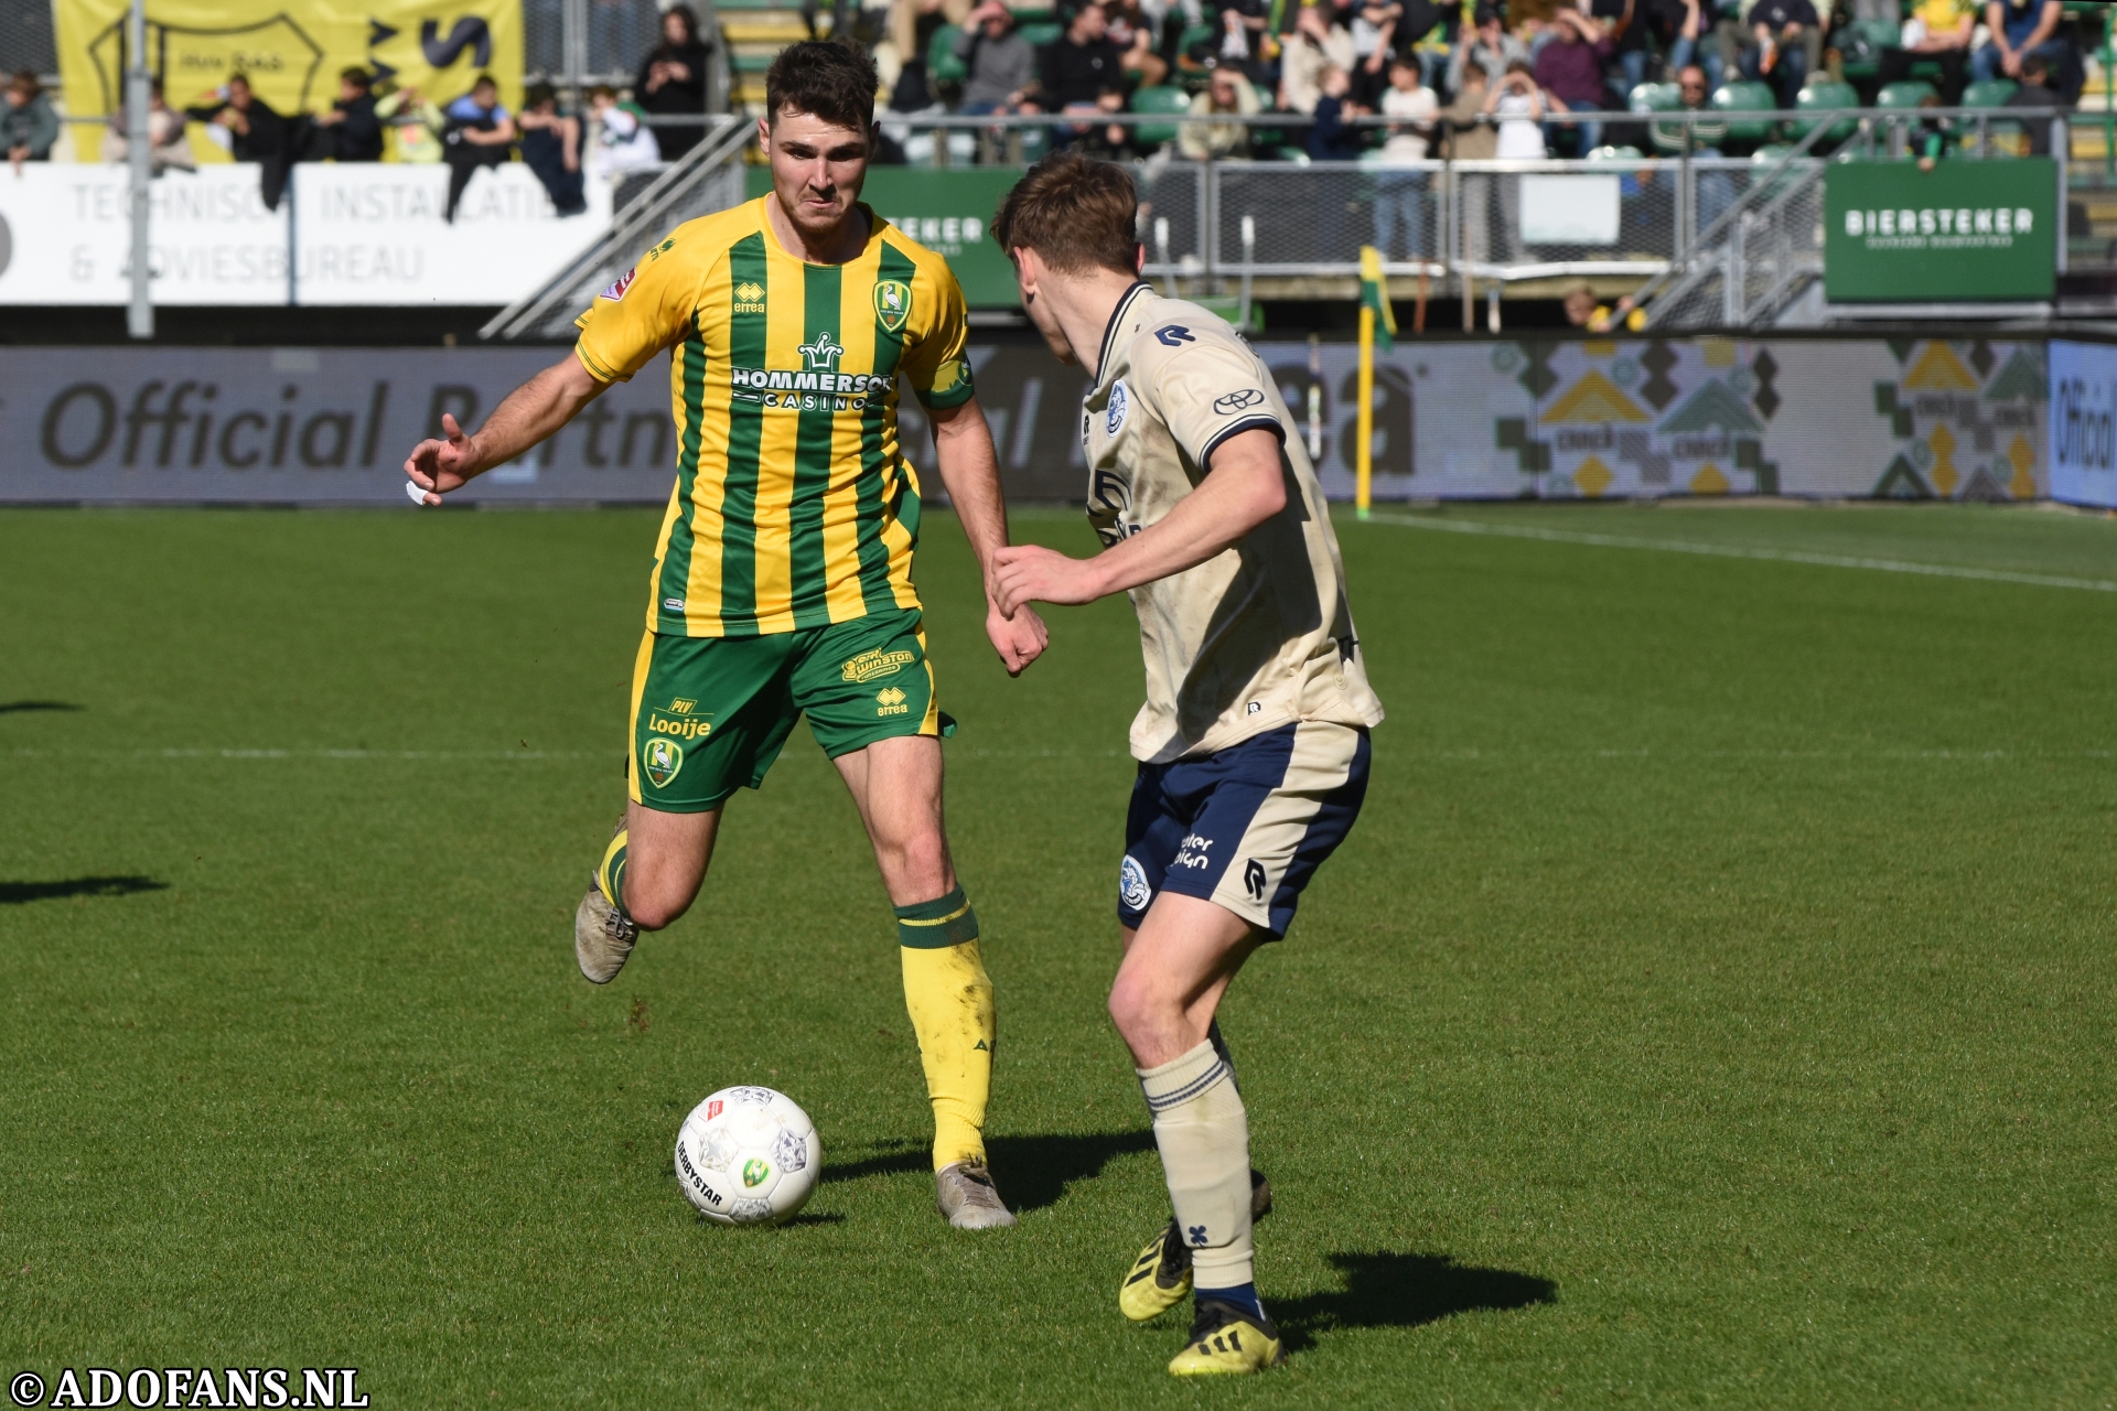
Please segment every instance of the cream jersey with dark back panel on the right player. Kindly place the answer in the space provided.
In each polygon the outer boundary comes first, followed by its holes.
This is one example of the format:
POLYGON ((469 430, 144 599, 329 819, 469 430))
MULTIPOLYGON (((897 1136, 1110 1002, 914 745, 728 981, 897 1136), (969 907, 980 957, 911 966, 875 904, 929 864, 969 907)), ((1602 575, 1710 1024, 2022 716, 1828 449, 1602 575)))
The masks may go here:
POLYGON ((1226 552, 1133 588, 1147 658, 1133 755, 1147 764, 1291 721, 1382 721, 1323 489, 1270 370, 1226 322, 1145 283, 1111 315, 1082 404, 1088 520, 1105 546, 1160 523, 1205 480, 1213 448, 1251 427, 1279 438, 1285 510, 1226 552))

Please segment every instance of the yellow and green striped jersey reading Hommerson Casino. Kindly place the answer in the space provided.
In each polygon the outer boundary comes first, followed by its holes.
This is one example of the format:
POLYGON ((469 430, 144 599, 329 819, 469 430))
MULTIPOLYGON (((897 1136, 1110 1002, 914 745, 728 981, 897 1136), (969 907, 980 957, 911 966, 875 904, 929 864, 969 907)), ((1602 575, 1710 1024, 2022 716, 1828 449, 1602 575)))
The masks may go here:
POLYGON ((895 381, 931 408, 970 400, 963 290, 866 205, 860 258, 809 264, 779 248, 771 199, 677 226, 576 319, 574 355, 601 383, 673 349, 652 633, 756 637, 919 605, 895 381))

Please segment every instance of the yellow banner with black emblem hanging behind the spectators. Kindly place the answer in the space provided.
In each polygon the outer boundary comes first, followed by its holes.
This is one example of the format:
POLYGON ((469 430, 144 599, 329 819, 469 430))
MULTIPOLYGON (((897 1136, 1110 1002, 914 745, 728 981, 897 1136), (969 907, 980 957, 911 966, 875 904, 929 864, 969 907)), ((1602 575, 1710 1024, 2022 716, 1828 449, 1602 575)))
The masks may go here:
MULTIPOLYGON (((68 110, 102 116, 121 106, 127 0, 57 0, 53 13, 68 110)), ((275 112, 324 112, 347 68, 438 104, 483 72, 510 112, 523 89, 521 0, 146 0, 146 51, 171 108, 207 104, 233 74, 248 74, 275 112)))

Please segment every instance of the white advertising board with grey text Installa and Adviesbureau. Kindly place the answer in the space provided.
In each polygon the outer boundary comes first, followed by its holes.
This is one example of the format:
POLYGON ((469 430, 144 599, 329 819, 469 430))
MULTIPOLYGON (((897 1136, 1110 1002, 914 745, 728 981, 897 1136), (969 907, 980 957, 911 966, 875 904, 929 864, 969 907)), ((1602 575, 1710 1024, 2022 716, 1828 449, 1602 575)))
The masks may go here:
MULTIPOLYGON (((0 305, 123 305, 125 180, 123 167, 0 167, 0 305)), ((447 167, 301 165, 269 212, 254 165, 167 171, 148 224, 155 303, 506 305, 610 226, 605 184, 561 218, 521 163, 472 176, 453 222, 447 190, 447 167)))

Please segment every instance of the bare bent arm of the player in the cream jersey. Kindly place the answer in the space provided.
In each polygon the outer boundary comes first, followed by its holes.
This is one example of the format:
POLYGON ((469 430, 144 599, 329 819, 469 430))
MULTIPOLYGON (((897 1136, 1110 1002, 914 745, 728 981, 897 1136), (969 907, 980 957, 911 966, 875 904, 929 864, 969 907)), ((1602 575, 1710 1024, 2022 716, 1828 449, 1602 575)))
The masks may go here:
POLYGON ((1092 603, 1156 578, 1196 567, 1287 506, 1279 438, 1255 427, 1213 448, 1207 476, 1156 525, 1094 558, 1023 544, 997 554, 993 575, 1001 611, 1023 603, 1092 603))

